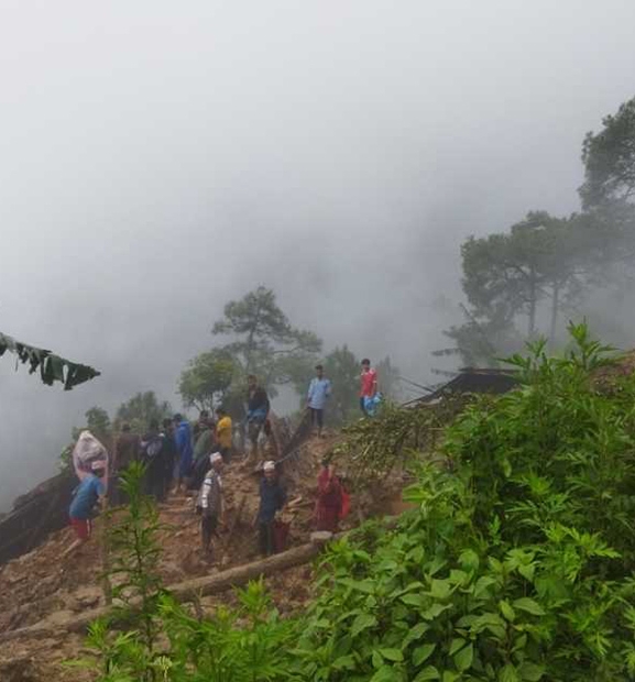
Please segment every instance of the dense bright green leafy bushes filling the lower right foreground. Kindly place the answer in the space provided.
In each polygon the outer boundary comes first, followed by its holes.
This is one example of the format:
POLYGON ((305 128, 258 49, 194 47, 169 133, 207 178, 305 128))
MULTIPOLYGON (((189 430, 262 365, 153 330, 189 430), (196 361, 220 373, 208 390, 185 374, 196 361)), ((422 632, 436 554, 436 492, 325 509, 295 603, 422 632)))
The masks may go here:
POLYGON ((101 682, 635 679, 635 380, 599 392, 606 349, 571 333, 567 358, 535 345, 519 389, 456 420, 451 470, 420 468, 396 528, 330 547, 306 614, 280 620, 262 586, 209 620, 162 596, 144 675, 141 628, 94 630, 101 682))

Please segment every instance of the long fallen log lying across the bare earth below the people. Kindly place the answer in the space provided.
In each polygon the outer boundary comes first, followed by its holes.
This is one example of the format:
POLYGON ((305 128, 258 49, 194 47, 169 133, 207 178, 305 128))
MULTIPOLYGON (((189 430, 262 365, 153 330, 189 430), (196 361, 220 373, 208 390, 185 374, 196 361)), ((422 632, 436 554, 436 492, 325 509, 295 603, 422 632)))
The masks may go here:
MULTIPOLYGON (((167 591, 179 602, 190 602, 200 596, 210 594, 219 594, 233 587, 244 585, 251 580, 258 580, 261 576, 269 576, 286 571, 297 565, 302 565, 315 559, 322 550, 324 542, 309 542, 294 547, 280 554, 274 554, 262 561, 245 563, 233 569, 228 569, 215 575, 205 575, 193 580, 176 583, 167 586, 167 591)), ((107 616, 110 607, 101 606, 87 610, 83 614, 75 615, 67 619, 53 616, 53 623, 46 623, 46 619, 35 625, 31 625, 9 632, 0 634, 0 642, 10 641, 21 638, 55 638, 65 632, 81 632, 94 620, 107 616)), ((58 616, 59 614, 57 614, 58 616)))

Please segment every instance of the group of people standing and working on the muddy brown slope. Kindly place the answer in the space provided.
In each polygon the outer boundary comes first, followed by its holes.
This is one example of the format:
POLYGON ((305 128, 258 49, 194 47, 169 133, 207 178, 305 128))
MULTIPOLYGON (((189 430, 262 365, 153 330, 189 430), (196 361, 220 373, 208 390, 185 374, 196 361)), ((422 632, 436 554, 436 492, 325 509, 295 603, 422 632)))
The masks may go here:
MULTIPOLYGON (((331 396, 332 385, 324 375, 322 365, 316 366, 316 376, 307 392, 307 409, 310 410, 311 425, 317 435, 322 436, 324 415, 331 396)), ((360 408, 364 416, 371 416, 369 400, 377 396, 377 375, 368 359, 362 361, 360 377, 360 408)), ((258 455, 261 431, 267 431, 267 418, 271 404, 266 391, 259 385, 255 376, 248 377, 247 427, 252 452, 258 455)), ((103 477, 110 476, 110 498, 114 505, 124 504, 125 495, 121 488, 121 472, 133 461, 145 464, 144 493, 162 502, 174 484, 174 493, 184 490, 195 491, 196 510, 200 515, 201 544, 211 553, 212 537, 225 521, 222 471, 229 464, 233 449, 233 424, 226 409, 217 409, 218 421, 214 421, 207 410, 202 410, 198 422, 193 428, 190 422, 177 414, 172 419, 164 419, 162 428, 157 421, 150 425, 143 436, 132 432, 124 424, 114 444, 109 472, 105 460, 90 464, 80 484, 75 491, 69 509, 70 524, 77 540, 68 548, 72 551, 85 542, 91 532, 90 519, 94 507, 106 498, 103 477)), ((332 462, 324 462, 317 482, 317 502, 315 508, 315 527, 317 530, 335 532, 338 524, 348 513, 349 498, 342 483, 336 474, 332 462)), ((276 462, 270 460, 262 466, 262 480, 259 487, 260 504, 255 518, 259 530, 259 548, 269 556, 280 549, 276 541, 276 522, 282 509, 287 504, 287 495, 276 462)))

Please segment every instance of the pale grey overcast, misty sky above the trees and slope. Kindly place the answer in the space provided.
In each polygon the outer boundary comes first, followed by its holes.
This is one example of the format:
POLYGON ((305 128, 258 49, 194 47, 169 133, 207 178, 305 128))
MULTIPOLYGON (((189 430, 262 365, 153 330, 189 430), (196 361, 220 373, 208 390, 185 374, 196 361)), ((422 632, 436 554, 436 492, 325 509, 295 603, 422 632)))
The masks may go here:
POLYGON ((64 393, 2 359, 0 508, 91 405, 176 406, 258 284, 428 380, 461 241, 578 208, 634 25, 632 0, 0 0, 0 329, 103 372, 64 393))

